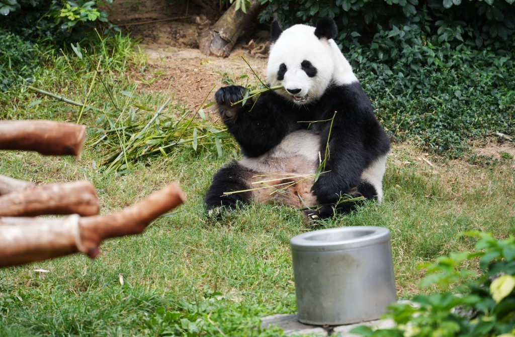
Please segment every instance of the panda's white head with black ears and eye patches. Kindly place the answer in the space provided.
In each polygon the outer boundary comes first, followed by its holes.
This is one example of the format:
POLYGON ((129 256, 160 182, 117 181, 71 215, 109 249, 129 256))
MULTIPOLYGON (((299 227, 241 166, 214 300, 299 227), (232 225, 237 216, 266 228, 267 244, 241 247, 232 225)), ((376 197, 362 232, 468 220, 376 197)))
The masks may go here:
POLYGON ((294 25, 284 31, 277 21, 272 23, 267 77, 271 86, 283 86, 278 94, 297 104, 323 95, 335 72, 336 33, 328 17, 319 19, 316 27, 294 25))

